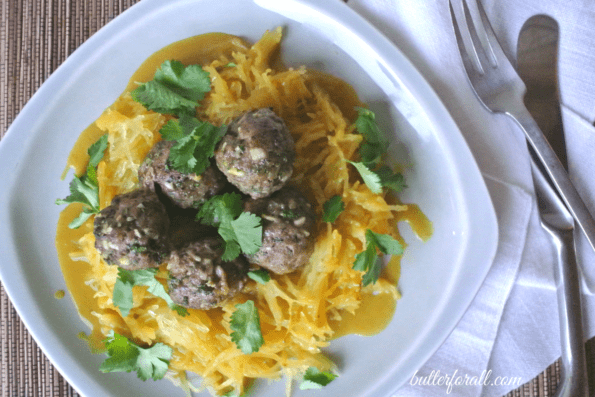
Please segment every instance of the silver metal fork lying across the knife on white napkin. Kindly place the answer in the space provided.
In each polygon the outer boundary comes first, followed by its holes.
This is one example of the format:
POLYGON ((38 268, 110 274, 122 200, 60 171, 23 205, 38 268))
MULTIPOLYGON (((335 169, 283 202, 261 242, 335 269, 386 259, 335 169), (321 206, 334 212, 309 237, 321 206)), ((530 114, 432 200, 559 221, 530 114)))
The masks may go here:
POLYGON ((466 0, 456 1, 458 7, 449 0, 450 13, 461 58, 475 94, 490 112, 511 117, 523 130, 551 183, 595 250, 595 221, 525 107, 525 84, 498 43, 481 2, 477 1, 477 13, 473 18, 466 0))

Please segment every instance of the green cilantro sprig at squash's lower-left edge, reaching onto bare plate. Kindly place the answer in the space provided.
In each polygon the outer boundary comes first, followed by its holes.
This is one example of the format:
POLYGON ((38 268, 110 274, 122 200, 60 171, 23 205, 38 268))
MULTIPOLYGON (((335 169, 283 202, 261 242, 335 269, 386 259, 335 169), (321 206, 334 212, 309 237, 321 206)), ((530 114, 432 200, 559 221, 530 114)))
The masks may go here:
POLYGON ((113 330, 106 340, 108 358, 101 364, 101 372, 136 371, 142 380, 162 379, 169 367, 173 349, 163 343, 156 343, 149 348, 142 348, 116 334, 113 330))

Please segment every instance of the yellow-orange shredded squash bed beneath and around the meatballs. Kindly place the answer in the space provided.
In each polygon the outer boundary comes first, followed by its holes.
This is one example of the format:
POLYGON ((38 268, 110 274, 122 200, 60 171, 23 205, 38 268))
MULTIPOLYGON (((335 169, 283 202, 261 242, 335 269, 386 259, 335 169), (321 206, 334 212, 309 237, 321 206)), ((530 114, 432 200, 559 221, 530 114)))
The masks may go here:
MULTIPOLYGON (((399 294, 394 283, 380 278, 362 287, 362 272, 352 269, 355 255, 365 248, 371 229, 402 241, 395 227, 399 211, 383 194, 373 194, 358 179, 347 160, 357 160, 362 136, 354 131, 329 94, 305 68, 274 70, 271 58, 278 50, 281 29, 269 31, 251 48, 221 56, 203 68, 210 73, 212 90, 198 116, 213 124, 227 124, 245 111, 271 107, 281 116, 296 142, 297 158, 291 184, 300 187, 318 212, 317 240, 309 263, 289 275, 273 275, 266 284, 250 283, 222 308, 190 309, 179 316, 165 301, 134 288, 134 307, 126 317, 112 302, 117 267, 103 262, 94 247, 93 233, 79 241, 72 257, 88 262, 101 332, 110 330, 138 343, 162 342, 174 349, 168 377, 189 390, 187 372, 202 379, 200 388, 213 395, 238 394, 254 378, 295 379, 308 367, 333 369, 321 349, 333 337, 332 321, 354 313, 364 293, 399 294), (230 63, 234 67, 229 67, 230 63), (340 195, 345 210, 334 223, 320 221, 322 206, 340 195), (254 300, 265 343, 256 353, 243 354, 230 338, 230 317, 235 305, 254 300)), ((159 129, 169 116, 146 110, 124 93, 96 121, 109 134, 109 149, 98 166, 101 208, 118 194, 138 187, 137 171, 161 137, 159 129)), ((89 222, 92 222, 90 220, 89 222)), ((166 284, 163 264, 158 278, 166 284)), ((288 382, 290 383, 290 382, 288 382)))

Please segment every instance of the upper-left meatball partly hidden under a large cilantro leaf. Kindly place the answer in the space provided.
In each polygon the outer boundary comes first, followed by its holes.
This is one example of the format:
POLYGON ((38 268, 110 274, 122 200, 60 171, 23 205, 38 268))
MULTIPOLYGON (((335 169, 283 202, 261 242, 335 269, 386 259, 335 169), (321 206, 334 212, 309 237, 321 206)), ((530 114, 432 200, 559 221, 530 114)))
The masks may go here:
POLYGON ((138 179, 142 186, 154 189, 155 184, 171 201, 182 208, 198 207, 221 191, 227 181, 212 164, 202 174, 182 173, 168 165, 173 141, 160 141, 153 146, 140 168, 138 179))

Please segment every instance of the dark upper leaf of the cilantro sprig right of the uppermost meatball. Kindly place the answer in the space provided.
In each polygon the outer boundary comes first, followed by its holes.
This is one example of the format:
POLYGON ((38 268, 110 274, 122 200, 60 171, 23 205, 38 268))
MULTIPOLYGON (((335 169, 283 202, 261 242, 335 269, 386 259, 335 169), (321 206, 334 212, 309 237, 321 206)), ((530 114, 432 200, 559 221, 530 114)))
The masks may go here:
POLYGON ((359 150, 360 157, 364 163, 376 163, 386 152, 388 139, 378 127, 374 112, 358 107, 357 113, 355 128, 364 137, 359 150))

